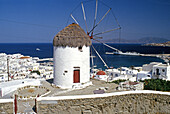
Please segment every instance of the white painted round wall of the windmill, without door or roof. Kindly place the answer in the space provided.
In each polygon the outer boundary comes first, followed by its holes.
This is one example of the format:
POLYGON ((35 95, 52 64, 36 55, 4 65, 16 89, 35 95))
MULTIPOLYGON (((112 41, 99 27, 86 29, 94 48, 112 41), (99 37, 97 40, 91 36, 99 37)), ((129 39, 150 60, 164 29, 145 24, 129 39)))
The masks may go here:
POLYGON ((90 48, 83 46, 82 52, 78 47, 53 48, 54 81, 61 88, 72 88, 74 67, 80 67, 80 83, 90 81, 90 48), (65 73, 67 71, 67 73, 65 73))

